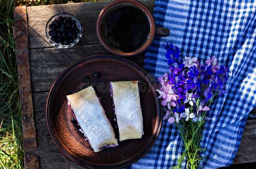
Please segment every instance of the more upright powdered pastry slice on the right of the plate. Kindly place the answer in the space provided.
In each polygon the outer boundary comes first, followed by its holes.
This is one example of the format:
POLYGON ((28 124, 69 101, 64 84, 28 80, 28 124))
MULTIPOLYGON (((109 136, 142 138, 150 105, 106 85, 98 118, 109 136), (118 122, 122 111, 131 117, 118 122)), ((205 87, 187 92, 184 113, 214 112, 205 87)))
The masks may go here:
POLYGON ((120 141, 140 139, 143 133, 138 81, 110 82, 120 141))

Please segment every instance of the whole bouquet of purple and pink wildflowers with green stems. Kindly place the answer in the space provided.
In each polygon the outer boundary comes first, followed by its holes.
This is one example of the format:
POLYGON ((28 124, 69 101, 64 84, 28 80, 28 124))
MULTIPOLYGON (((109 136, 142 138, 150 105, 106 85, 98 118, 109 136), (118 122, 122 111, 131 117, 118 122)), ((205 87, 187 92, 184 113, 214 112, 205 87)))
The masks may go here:
POLYGON ((172 44, 166 45, 169 73, 159 77, 159 98, 166 112, 164 120, 175 124, 183 139, 184 153, 178 160, 178 168, 187 159, 187 168, 200 166, 201 133, 207 111, 215 96, 225 92, 229 69, 218 64, 215 56, 200 65, 197 58, 180 56, 180 50, 172 44))

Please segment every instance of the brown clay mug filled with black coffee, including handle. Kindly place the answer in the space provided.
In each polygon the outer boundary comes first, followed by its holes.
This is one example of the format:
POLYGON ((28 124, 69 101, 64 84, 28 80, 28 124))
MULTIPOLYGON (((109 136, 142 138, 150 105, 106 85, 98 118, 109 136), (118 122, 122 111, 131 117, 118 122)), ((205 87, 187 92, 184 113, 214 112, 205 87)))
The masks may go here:
POLYGON ((167 28, 156 28, 146 6, 136 0, 115 0, 99 13, 97 35, 102 45, 119 56, 137 55, 154 36, 169 36, 167 28))

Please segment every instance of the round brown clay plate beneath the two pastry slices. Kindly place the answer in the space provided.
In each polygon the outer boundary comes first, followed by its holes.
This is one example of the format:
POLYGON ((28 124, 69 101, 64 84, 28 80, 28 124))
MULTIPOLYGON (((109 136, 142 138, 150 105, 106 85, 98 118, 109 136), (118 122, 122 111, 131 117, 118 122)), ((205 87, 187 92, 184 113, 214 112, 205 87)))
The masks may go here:
POLYGON ((136 162, 153 146, 162 125, 162 107, 154 90, 154 81, 135 63, 113 55, 94 55, 68 66, 57 77, 46 104, 47 126, 58 149, 75 163, 88 168, 121 168, 136 162), (94 73, 100 74, 99 78, 94 73), (84 83, 88 77, 89 82, 84 83), (115 148, 95 153, 78 126, 71 123, 73 114, 67 106, 66 95, 93 85, 117 135, 110 81, 138 80, 144 136, 141 139, 118 141, 115 148))

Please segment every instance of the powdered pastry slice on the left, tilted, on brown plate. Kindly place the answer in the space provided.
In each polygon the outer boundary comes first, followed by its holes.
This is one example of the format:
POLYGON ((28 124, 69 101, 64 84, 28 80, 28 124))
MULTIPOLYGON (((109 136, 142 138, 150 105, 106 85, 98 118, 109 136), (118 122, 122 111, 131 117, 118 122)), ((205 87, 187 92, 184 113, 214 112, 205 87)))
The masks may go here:
POLYGON ((110 121, 92 86, 67 96, 81 132, 95 152, 118 146, 110 121))

